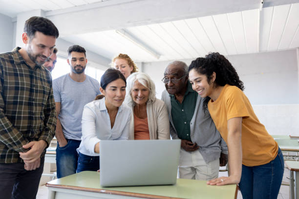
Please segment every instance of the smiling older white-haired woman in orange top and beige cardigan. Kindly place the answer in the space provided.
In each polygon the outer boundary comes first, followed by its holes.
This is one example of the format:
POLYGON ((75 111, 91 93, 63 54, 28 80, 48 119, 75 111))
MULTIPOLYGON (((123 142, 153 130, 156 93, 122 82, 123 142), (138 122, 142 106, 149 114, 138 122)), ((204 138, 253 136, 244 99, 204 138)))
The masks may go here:
POLYGON ((125 103, 132 108, 129 139, 170 139, 166 106, 156 99, 155 84, 147 74, 128 77, 125 103))

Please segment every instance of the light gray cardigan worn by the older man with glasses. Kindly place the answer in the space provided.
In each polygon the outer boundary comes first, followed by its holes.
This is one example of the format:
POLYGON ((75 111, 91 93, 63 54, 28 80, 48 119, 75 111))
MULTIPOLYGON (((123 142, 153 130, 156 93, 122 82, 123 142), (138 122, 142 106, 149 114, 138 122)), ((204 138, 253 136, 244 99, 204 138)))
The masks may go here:
MULTIPOLYGON (((179 139, 171 118, 171 97, 167 90, 162 93, 162 100, 167 106, 169 119, 171 121, 170 132, 172 139, 179 139)), ((199 152, 205 162, 210 162, 219 159, 220 152, 228 154, 228 149, 225 141, 221 138, 220 133, 215 127, 210 113, 204 113, 203 98, 197 97, 194 114, 190 121, 190 137, 193 143, 199 146, 199 152)))

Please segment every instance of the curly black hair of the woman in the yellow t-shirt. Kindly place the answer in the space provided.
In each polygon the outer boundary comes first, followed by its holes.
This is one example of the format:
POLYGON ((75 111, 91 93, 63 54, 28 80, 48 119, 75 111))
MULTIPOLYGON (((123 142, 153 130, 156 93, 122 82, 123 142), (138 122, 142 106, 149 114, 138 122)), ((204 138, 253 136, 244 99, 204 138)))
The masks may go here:
MULTIPOLYGON (((238 87, 242 91, 244 90, 243 82, 239 79, 234 66, 232 66, 230 61, 219 53, 210 53, 206 55, 205 58, 197 58, 196 60, 193 60, 188 68, 188 71, 190 72, 192 69, 202 75, 206 75, 209 84, 211 83, 213 72, 215 72, 215 87, 229 84, 238 87)), ((208 96, 204 99, 203 109, 205 112, 207 111, 210 99, 211 98, 208 96)))

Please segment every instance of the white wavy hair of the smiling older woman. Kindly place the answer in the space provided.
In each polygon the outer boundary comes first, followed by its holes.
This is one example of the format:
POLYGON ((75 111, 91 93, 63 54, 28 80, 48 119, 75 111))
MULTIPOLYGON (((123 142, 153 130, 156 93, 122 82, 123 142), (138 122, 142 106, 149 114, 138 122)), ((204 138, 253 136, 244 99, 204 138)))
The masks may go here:
POLYGON ((143 86, 149 89, 149 99, 147 104, 153 103, 156 100, 156 88, 155 83, 149 78, 149 75, 138 72, 132 73, 127 79, 127 87, 126 87, 126 98, 125 103, 129 106, 135 106, 135 102, 132 99, 132 88, 135 81, 138 81, 143 86))

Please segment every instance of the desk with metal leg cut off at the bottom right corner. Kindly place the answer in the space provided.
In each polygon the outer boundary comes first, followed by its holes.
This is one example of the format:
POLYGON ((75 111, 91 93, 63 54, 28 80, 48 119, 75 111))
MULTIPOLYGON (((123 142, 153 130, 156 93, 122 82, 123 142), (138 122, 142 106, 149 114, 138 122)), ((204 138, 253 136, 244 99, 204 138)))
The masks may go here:
POLYGON ((297 184, 299 180, 299 161, 285 161, 285 165, 290 170, 290 199, 297 199, 299 196, 299 186, 297 184))

